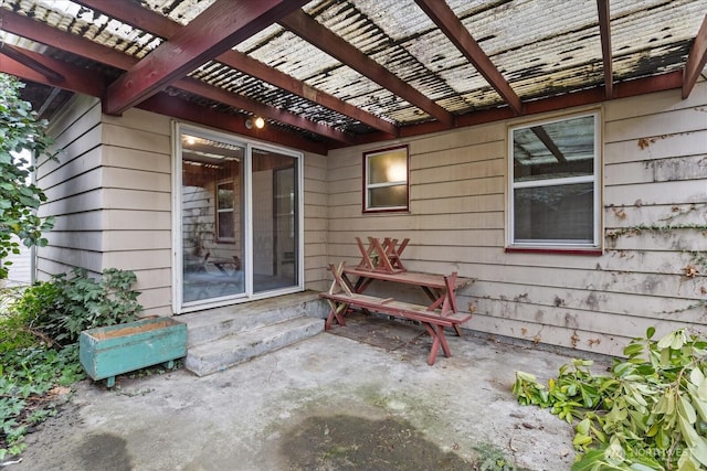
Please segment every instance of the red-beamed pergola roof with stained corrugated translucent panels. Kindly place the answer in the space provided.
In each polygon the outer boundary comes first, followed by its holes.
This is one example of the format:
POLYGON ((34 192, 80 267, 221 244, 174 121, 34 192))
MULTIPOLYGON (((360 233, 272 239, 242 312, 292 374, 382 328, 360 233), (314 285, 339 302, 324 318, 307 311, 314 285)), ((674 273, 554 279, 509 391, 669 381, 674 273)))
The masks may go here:
POLYGON ((28 82, 44 116, 82 93, 108 115, 138 107, 326 154, 657 90, 685 98, 707 61, 706 11, 707 0, 2 0, 0 72, 28 82))

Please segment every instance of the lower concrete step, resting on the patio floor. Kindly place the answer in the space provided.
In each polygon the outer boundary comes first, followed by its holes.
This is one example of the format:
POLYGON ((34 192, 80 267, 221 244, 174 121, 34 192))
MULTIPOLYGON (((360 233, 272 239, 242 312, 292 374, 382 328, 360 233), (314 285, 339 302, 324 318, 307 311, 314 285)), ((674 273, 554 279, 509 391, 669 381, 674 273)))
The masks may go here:
POLYGON ((190 347, 187 370, 205 376, 282 349, 324 331, 324 319, 300 315, 256 329, 239 331, 190 347))

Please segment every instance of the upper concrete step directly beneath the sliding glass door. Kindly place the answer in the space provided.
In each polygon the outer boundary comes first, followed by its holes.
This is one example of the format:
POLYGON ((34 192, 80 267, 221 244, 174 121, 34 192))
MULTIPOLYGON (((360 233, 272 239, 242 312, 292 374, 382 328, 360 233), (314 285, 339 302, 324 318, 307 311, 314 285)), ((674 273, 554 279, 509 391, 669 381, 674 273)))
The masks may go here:
POLYGON ((303 314, 324 319, 327 312, 318 293, 305 291, 194 312, 179 320, 187 323, 187 346, 191 349, 303 314))

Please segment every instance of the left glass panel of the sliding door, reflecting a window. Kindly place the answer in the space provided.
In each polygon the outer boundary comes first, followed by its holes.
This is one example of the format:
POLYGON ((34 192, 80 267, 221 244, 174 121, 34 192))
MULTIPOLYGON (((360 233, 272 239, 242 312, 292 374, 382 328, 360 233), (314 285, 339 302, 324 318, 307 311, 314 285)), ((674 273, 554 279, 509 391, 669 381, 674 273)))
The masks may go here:
POLYGON ((245 148, 181 135, 182 303, 245 292, 245 148))

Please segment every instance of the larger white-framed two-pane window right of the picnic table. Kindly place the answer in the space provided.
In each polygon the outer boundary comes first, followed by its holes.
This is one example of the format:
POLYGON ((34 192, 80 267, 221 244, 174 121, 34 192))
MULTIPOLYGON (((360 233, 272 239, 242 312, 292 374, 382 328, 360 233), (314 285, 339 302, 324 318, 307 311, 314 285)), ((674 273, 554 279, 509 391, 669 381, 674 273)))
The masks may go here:
POLYGON ((599 113, 509 129, 510 248, 600 247, 599 113))

